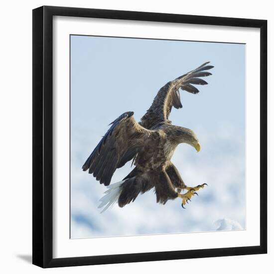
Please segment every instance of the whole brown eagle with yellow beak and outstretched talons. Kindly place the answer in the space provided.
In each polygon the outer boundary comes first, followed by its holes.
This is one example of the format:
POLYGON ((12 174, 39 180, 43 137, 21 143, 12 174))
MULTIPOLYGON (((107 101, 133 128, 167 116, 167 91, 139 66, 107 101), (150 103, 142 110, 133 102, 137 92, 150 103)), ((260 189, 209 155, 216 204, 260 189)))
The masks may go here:
POLYGON ((140 123, 135 121, 133 112, 126 112, 111 123, 82 167, 109 188, 100 207, 108 208, 116 201, 123 207, 153 187, 156 201, 162 204, 181 197, 183 206, 196 193, 199 187, 189 188, 184 184, 171 157, 179 143, 188 143, 199 151, 198 138, 192 130, 172 125, 168 118, 172 107, 182 108, 179 89, 197 94, 199 90, 193 85, 207 84, 199 77, 211 75, 205 71, 213 68, 208 63, 164 85, 140 123), (110 185, 115 170, 130 160, 136 166, 133 171, 123 181, 110 185), (189 190, 189 195, 180 194, 181 189, 189 190))

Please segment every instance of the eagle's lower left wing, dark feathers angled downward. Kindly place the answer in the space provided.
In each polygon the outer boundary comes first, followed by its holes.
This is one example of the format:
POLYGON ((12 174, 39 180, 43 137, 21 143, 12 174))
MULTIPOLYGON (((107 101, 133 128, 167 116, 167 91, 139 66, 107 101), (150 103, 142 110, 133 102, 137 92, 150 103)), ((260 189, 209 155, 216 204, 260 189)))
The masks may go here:
MULTIPOLYGON (((133 112, 126 112, 110 125, 111 128, 101 139, 83 165, 83 170, 93 173, 96 180, 109 185, 127 151, 142 149, 143 143, 153 132, 141 127, 133 118, 133 112)), ((154 133, 155 134, 155 133, 154 133)))

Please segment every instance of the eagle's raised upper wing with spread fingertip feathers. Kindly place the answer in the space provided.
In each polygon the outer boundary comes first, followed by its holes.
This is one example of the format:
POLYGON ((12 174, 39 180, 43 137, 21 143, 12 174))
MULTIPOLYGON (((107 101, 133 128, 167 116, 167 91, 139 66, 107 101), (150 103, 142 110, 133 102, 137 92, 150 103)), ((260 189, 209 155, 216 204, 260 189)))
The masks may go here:
POLYGON ((172 106, 176 109, 182 108, 179 89, 192 94, 197 94, 199 90, 193 85, 207 85, 207 82, 200 77, 212 75, 206 70, 212 69, 209 62, 202 64, 196 69, 176 78, 164 85, 157 93, 151 107, 141 118, 140 125, 146 129, 151 129, 161 122, 169 122, 168 117, 172 106))

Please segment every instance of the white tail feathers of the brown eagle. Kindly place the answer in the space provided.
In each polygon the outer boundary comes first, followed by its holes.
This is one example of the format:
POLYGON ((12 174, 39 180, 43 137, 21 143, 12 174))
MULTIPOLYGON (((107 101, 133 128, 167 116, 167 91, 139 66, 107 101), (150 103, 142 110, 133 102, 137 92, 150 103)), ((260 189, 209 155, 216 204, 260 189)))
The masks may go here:
POLYGON ((98 208, 105 206, 101 213, 106 211, 110 206, 113 206, 115 203, 117 203, 122 191, 120 186, 124 182, 125 180, 107 186, 108 190, 104 192, 105 195, 100 199, 101 204, 98 206, 98 208))

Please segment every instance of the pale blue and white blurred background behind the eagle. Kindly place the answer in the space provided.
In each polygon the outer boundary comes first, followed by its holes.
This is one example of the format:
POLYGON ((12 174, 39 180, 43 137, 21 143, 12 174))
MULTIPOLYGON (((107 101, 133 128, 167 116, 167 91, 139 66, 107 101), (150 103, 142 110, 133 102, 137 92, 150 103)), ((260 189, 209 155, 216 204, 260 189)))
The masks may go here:
MULTIPOLYGON (((118 169, 121 181, 131 163, 118 169)), ((245 45, 71 36, 71 238, 245 228, 245 45), (159 88, 203 62, 215 66, 198 95, 181 93, 174 125, 194 130, 201 151, 177 147, 172 162, 199 197, 156 203, 153 190, 100 214, 106 187, 81 167, 108 124, 125 111, 138 121, 159 88)))

